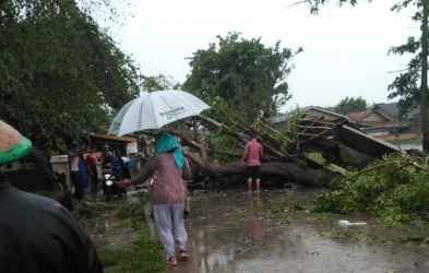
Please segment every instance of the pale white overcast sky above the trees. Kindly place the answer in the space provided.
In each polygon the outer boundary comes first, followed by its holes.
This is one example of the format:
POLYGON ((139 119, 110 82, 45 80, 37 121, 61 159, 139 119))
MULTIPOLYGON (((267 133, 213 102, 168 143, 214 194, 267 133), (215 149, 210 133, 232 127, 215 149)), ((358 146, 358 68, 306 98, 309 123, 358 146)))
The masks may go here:
MULTIPOLYGON (((296 105, 334 106, 346 96, 390 103, 388 85, 406 68, 407 57, 388 56, 391 46, 418 34, 408 11, 391 12, 397 0, 360 1, 338 8, 336 0, 311 15, 296 0, 132 0, 134 17, 115 38, 145 75, 171 75, 182 83, 190 73, 187 57, 217 43, 217 35, 240 32, 261 37, 265 47, 303 48, 291 63, 287 82, 293 94, 283 109, 296 105)), ((115 31, 115 29, 114 29, 115 31)))

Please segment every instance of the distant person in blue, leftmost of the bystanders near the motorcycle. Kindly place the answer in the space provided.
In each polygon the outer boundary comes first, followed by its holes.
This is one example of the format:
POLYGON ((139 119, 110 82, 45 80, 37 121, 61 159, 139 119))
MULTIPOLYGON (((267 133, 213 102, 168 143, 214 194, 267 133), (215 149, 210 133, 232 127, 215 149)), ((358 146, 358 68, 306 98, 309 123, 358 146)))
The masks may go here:
POLYGON ((83 191, 87 187, 85 165, 81 159, 81 147, 76 141, 73 141, 70 145, 70 177, 71 182, 74 186, 74 198, 78 203, 82 202, 83 191))

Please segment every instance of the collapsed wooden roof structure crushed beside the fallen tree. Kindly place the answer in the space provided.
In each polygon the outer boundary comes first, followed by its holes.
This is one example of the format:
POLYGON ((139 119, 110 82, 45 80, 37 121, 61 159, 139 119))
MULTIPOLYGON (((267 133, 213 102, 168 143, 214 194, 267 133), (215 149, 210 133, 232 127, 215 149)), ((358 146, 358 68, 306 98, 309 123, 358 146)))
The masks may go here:
MULTIPOLYGON (((309 165, 331 166, 342 171, 348 165, 365 166, 398 147, 361 131, 347 116, 311 106, 301 108, 299 149, 309 165)), ((286 122, 286 115, 273 119, 276 127, 286 122)), ((317 166, 314 166, 317 167, 317 166)))

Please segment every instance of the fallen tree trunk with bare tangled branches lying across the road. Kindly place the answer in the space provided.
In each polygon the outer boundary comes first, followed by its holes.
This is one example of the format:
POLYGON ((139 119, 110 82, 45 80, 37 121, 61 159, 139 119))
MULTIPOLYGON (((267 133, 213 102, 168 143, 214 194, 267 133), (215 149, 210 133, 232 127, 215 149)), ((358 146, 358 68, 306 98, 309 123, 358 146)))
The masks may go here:
POLYGON ((299 152, 298 144, 286 134, 272 128, 267 122, 259 121, 250 126, 245 121, 229 119, 229 124, 216 121, 205 116, 190 118, 179 128, 165 127, 167 131, 180 138, 183 154, 198 168, 202 177, 228 177, 245 175, 246 168, 240 165, 240 158, 250 134, 255 134, 262 144, 264 155, 261 158, 261 176, 264 178, 296 181, 312 187, 329 187, 331 180, 339 174, 330 169, 310 168, 307 156, 299 152), (210 147, 207 135, 217 130, 218 138, 228 135, 234 140, 235 147, 223 151, 210 147), (227 156, 228 161, 221 163, 216 156, 227 156))

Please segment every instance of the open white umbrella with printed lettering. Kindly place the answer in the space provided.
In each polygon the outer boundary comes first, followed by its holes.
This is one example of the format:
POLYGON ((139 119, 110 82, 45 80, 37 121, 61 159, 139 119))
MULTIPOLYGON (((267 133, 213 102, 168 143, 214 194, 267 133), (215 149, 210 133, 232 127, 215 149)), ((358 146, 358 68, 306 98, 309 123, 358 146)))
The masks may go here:
POLYGON ((179 90, 154 91, 126 104, 116 115, 107 134, 123 134, 200 115, 210 106, 200 98, 179 90))

